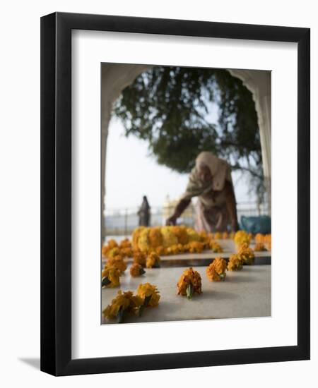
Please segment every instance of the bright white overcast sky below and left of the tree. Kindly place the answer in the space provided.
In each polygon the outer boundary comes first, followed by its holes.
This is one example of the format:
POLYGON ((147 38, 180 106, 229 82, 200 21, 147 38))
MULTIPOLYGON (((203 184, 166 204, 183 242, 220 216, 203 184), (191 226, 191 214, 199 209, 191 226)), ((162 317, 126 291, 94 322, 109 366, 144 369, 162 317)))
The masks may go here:
MULTIPOLYGON (((245 178, 232 173, 237 202, 252 200, 245 178)), ((106 207, 109 210, 138 207, 143 195, 151 206, 162 206, 169 195, 177 199, 184 192, 188 174, 179 174, 155 162, 147 143, 134 136, 126 138, 118 119, 110 122, 106 159, 106 207)))

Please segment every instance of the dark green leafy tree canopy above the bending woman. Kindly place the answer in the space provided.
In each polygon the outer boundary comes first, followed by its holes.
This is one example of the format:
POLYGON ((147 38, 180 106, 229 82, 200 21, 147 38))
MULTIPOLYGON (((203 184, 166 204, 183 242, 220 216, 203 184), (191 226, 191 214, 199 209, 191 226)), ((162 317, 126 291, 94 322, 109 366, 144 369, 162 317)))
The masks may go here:
POLYGON ((158 164, 186 173, 199 152, 211 151, 232 169, 248 171, 250 190, 262 198, 257 112, 252 93, 230 72, 154 66, 122 91, 114 115, 127 136, 148 142, 158 164))

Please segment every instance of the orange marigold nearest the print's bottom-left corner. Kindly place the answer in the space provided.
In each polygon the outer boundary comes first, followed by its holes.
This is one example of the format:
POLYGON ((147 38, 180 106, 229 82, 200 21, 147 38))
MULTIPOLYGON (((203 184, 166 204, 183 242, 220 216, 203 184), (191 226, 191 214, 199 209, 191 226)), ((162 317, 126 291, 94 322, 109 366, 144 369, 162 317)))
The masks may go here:
POLYGON ((142 305, 142 300, 139 296, 134 296, 131 291, 118 291, 116 298, 112 300, 110 305, 107 305, 102 313, 105 318, 109 320, 117 319, 117 322, 122 322, 124 315, 127 313, 134 314, 136 313, 140 306, 142 305))

